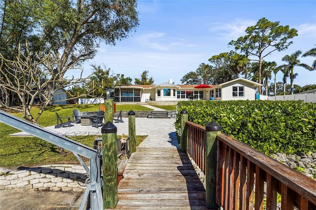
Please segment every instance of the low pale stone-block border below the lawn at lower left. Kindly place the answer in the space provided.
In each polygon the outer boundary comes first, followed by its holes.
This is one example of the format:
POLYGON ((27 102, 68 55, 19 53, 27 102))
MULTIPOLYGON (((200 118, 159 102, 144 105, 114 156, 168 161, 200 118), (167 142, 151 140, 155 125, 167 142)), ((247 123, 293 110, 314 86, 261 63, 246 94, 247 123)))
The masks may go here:
POLYGON ((4 173, 0 175, 0 190, 84 191, 88 177, 82 166, 65 164, 20 167, 4 173))

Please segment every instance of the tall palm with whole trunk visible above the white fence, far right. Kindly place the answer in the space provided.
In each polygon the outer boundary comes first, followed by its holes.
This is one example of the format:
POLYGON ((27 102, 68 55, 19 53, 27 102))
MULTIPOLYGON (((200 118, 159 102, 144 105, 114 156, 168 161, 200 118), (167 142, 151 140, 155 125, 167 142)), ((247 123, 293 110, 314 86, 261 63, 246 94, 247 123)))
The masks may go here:
MULTIPOLYGON (((284 67, 287 67, 288 70, 290 70, 290 80, 291 80, 291 94, 293 94, 294 90, 294 67, 299 66, 303 67, 307 70, 313 70, 312 67, 308 66, 307 64, 302 64, 300 60, 298 60, 298 57, 302 54, 301 50, 297 50, 296 52, 292 53, 291 55, 286 55, 282 58, 282 61, 287 62, 287 64, 281 65, 284 67)), ((297 74, 298 75, 298 74, 297 74)))

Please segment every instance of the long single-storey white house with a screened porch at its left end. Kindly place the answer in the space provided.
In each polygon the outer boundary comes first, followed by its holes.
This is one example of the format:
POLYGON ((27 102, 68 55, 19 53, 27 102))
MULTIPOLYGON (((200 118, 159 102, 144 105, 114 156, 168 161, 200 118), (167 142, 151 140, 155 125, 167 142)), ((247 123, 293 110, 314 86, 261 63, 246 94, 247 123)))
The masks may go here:
POLYGON ((197 85, 174 85, 172 80, 158 85, 122 85, 114 87, 116 102, 255 100, 261 84, 237 78, 219 85, 197 89, 197 85))

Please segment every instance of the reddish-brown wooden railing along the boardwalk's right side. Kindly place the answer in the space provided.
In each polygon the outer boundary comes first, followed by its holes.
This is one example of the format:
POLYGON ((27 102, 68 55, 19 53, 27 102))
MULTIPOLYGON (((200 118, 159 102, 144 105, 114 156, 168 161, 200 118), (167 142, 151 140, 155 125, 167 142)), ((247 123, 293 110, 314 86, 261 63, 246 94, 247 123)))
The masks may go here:
POLYGON ((282 210, 316 210, 315 180, 216 129, 208 129, 210 124, 203 127, 190 121, 183 123, 181 143, 186 141, 186 151, 206 175, 209 208, 275 210, 280 202, 282 210), (215 140, 208 132, 216 134, 215 140), (213 152, 216 154, 210 154, 213 152), (214 157, 216 160, 210 160, 214 157), (209 167, 214 163, 215 167, 209 167))

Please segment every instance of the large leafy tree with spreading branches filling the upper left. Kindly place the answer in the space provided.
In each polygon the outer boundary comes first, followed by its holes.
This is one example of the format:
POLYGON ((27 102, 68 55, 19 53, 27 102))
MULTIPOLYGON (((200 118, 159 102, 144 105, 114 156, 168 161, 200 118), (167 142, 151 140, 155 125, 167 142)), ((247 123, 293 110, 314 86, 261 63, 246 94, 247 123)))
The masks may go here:
MULTIPOLYGON (((0 55, 2 61, 27 55, 35 64, 44 59, 37 55, 51 55, 54 63, 46 74, 51 78, 45 91, 49 100, 68 69, 93 58, 101 42, 114 45, 137 26, 136 0, 3 0, 0 55)), ((5 69, 3 73, 8 74, 5 69)), ((2 78, 1 84, 7 84, 11 77, 2 78)))

